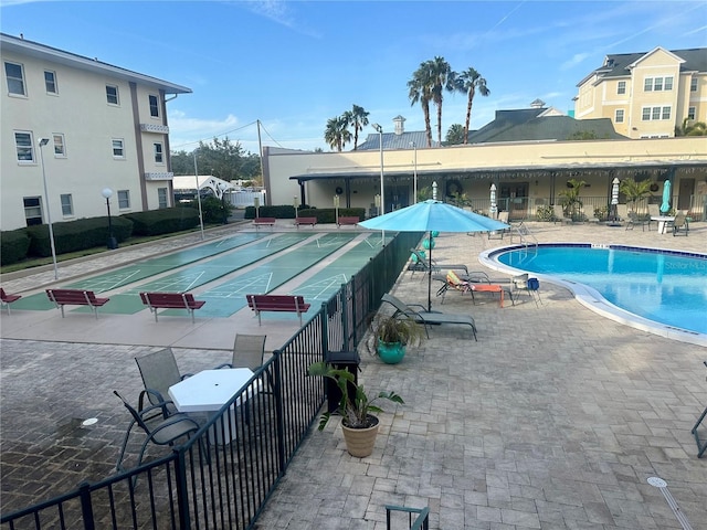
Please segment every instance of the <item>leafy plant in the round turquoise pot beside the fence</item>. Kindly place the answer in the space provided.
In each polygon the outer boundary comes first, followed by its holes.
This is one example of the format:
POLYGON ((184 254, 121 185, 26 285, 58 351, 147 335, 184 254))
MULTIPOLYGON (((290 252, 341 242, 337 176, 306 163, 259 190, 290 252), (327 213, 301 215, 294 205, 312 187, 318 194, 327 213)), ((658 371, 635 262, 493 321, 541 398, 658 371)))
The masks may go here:
POLYGON ((408 344, 416 346, 424 338, 424 328, 407 315, 379 315, 371 322, 368 350, 387 364, 398 364, 405 357, 408 344))

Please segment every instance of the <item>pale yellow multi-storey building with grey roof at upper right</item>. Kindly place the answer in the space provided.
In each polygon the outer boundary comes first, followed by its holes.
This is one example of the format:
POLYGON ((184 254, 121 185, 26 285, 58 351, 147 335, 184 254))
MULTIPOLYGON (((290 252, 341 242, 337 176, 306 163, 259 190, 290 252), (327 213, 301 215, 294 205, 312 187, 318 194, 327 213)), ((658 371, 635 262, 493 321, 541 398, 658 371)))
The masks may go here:
POLYGON ((672 138, 707 121, 707 49, 606 55, 578 85, 577 119, 610 118, 629 138, 672 138))

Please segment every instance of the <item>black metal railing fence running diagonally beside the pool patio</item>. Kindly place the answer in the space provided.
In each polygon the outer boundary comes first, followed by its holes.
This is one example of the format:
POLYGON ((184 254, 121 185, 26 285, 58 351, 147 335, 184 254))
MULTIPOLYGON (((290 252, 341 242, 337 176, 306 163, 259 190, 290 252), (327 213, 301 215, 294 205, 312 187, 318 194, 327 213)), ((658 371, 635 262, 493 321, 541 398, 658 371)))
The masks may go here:
POLYGON ((325 400, 307 367, 354 350, 420 233, 388 242, 184 445, 162 458, 0 518, 14 529, 247 529, 325 400))

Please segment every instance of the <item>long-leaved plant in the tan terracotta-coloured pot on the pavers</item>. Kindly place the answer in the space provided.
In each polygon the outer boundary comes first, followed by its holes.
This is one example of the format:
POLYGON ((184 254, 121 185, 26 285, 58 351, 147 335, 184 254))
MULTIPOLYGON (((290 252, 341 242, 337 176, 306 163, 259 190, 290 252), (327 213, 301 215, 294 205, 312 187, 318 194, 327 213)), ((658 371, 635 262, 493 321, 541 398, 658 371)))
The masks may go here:
MULTIPOLYGON (((326 362, 310 364, 307 372, 309 375, 321 375, 336 382, 341 391, 341 400, 336 412, 341 415, 341 431, 344 432, 346 448, 351 456, 359 458, 369 456, 373 452, 379 427, 379 420, 373 413, 383 412, 374 402, 389 400, 393 403, 403 404, 402 398, 392 391, 381 391, 371 399, 363 390, 363 386, 356 383, 351 372, 336 369, 326 362)), ((326 427, 330 416, 329 412, 325 412, 321 415, 319 431, 326 427)))

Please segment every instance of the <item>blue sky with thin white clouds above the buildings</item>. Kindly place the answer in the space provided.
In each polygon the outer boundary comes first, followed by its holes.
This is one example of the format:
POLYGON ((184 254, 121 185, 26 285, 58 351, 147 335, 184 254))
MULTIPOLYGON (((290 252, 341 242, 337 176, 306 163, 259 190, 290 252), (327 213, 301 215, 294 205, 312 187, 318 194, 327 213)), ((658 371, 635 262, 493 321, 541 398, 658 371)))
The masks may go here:
MULTIPOLYGON (((435 55, 486 78, 472 128, 536 98, 568 112, 605 54, 707 47, 707 1, 0 0, 0 28, 190 87, 168 104, 172 149, 228 136, 257 152, 260 120, 263 145, 329 150, 326 121, 352 104, 423 130, 407 83, 435 55)), ((445 95, 443 134, 465 110, 445 95)))

